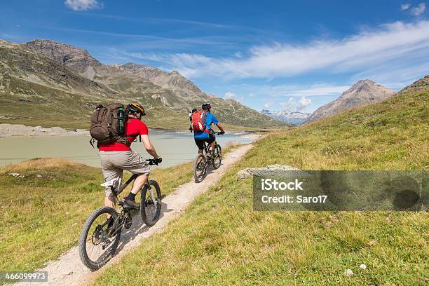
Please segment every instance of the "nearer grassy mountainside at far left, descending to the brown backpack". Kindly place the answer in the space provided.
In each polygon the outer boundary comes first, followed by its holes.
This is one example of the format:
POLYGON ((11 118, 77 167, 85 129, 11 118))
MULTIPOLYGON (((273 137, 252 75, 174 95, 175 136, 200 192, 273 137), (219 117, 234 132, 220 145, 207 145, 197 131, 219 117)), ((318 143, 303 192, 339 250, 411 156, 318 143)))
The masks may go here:
POLYGON ((18 44, 0 42, 1 123, 78 128, 88 120, 95 102, 109 95, 106 86, 55 60, 18 44))

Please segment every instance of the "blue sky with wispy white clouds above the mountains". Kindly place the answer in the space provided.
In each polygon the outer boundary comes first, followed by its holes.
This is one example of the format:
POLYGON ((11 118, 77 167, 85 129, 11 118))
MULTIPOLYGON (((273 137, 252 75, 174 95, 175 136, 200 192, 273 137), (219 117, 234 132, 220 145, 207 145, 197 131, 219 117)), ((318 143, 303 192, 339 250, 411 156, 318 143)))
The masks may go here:
POLYGON ((429 74, 425 1, 2 1, 0 39, 179 71, 260 110, 314 111, 359 79, 429 74))

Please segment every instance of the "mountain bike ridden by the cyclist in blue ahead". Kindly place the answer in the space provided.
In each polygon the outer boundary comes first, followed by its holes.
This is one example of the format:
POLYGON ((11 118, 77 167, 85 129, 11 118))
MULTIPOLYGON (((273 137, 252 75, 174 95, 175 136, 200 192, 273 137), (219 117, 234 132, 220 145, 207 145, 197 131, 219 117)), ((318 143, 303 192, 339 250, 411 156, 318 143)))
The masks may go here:
MULTIPOLYGON (((221 132, 215 132, 217 135, 222 135, 221 132)), ((203 154, 198 154, 193 161, 193 177, 196 183, 203 182, 205 175, 207 175, 207 168, 209 165, 213 166, 213 169, 216 170, 220 167, 222 163, 222 147, 214 142, 214 147, 212 151, 212 156, 207 157, 209 153, 209 144, 204 143, 203 154)))

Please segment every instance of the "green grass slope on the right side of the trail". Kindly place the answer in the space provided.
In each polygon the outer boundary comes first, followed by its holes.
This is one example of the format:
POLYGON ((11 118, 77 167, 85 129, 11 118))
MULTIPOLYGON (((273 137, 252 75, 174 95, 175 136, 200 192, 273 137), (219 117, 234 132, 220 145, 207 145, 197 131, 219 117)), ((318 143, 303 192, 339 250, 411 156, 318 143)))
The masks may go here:
POLYGON ((427 285, 427 212, 254 212, 243 168, 427 169, 429 92, 259 140, 164 233, 94 285, 427 285), (366 264, 367 269, 360 268, 366 264), (355 275, 346 277, 350 268, 355 275))

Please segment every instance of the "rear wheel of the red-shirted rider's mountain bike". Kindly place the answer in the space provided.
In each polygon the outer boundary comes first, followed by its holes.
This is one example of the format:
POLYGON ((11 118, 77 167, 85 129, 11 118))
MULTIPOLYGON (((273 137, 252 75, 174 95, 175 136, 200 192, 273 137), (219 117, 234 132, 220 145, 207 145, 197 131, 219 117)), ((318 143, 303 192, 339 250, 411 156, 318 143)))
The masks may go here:
POLYGON ((100 269, 114 257, 121 229, 114 236, 109 236, 108 232, 112 227, 118 227, 117 224, 118 212, 111 207, 100 207, 86 219, 79 238, 79 256, 86 267, 100 269), (106 214, 110 214, 109 219, 106 214))

